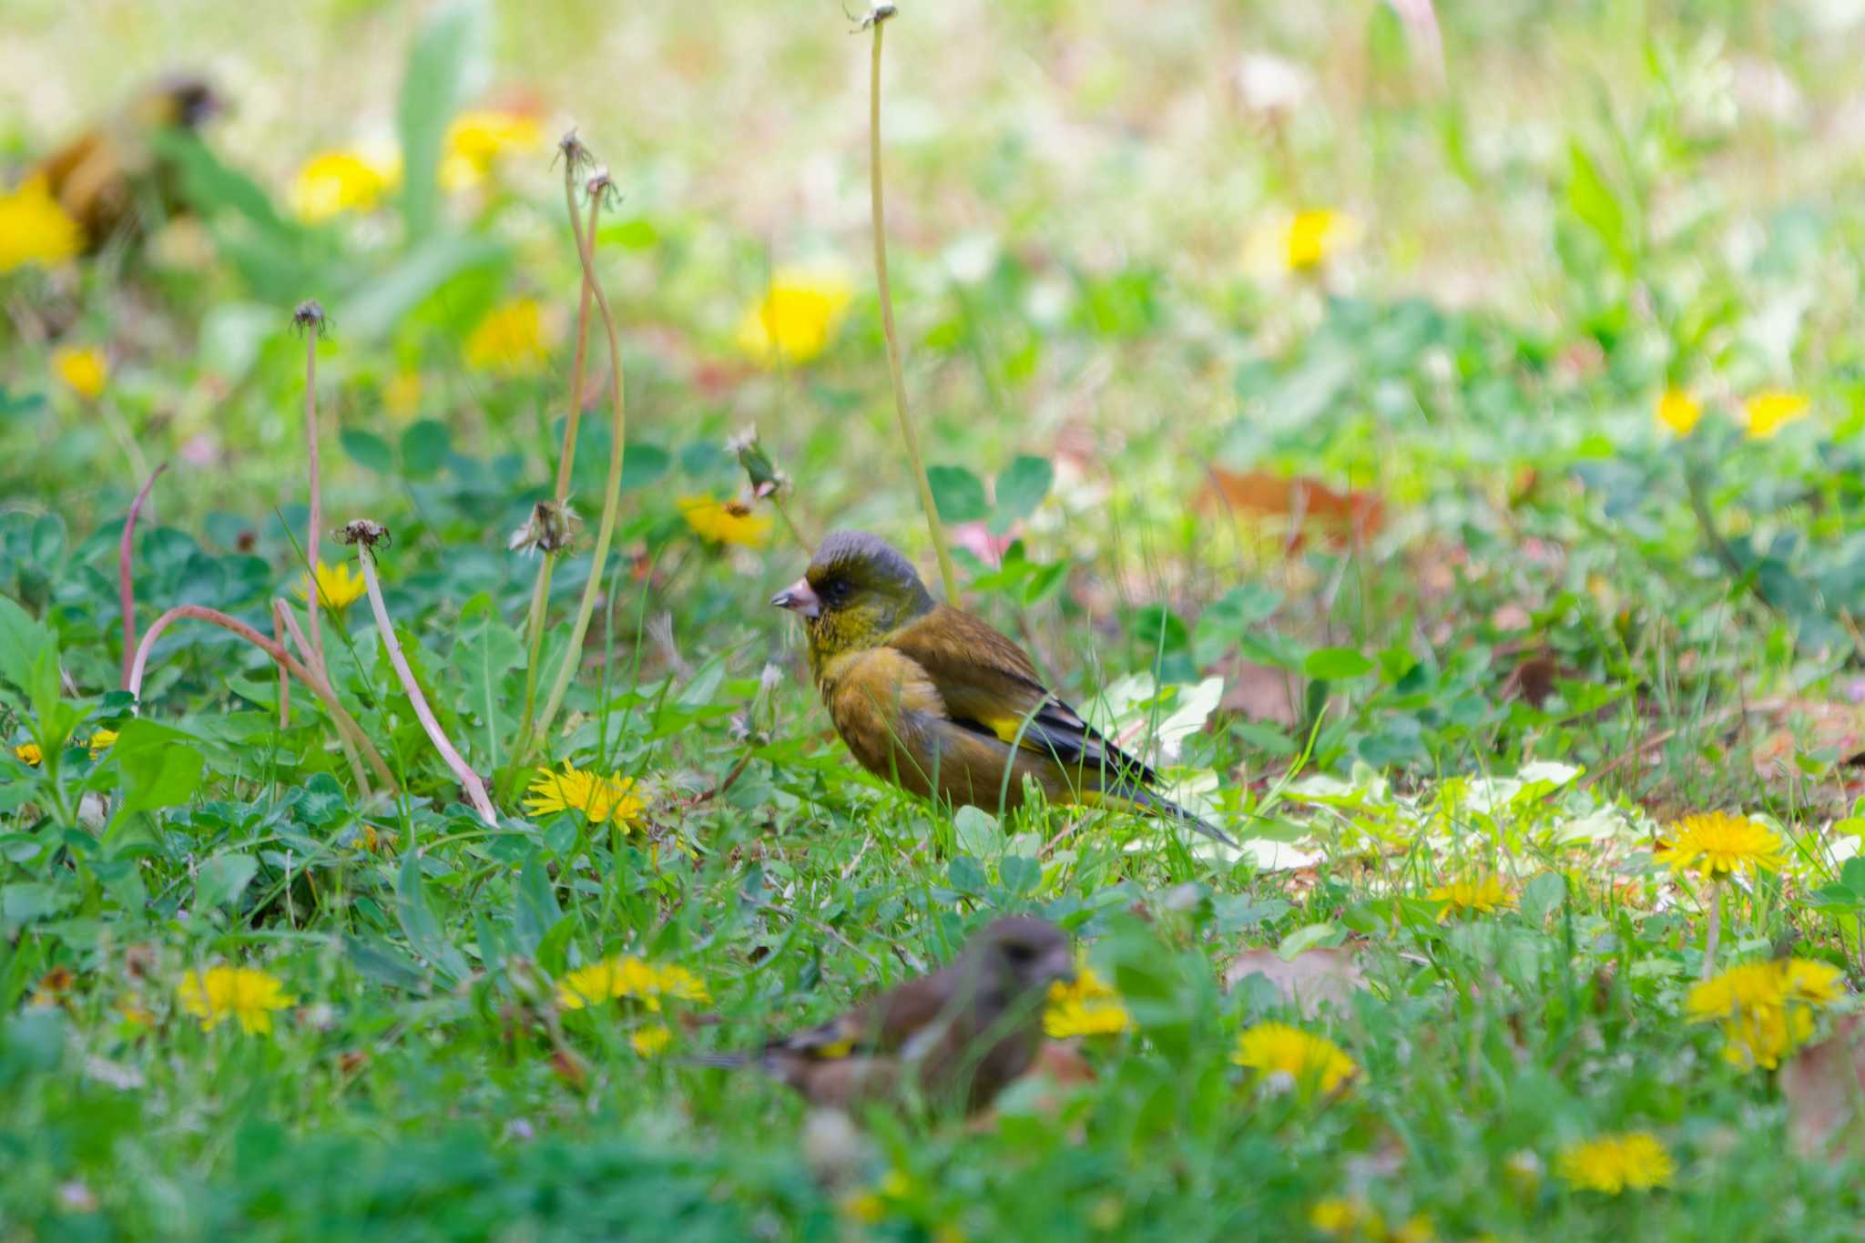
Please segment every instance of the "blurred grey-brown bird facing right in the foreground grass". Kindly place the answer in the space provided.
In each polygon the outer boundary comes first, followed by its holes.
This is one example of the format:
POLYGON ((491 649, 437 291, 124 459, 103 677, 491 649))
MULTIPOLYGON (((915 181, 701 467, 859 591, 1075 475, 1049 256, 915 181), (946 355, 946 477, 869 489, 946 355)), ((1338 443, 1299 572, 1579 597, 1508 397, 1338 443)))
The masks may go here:
POLYGON ((1074 978, 1069 937, 1029 915, 994 921, 946 967, 759 1053, 698 1059, 757 1066, 811 1105, 849 1109, 916 1088, 977 1111, 1029 1070, 1048 986, 1074 978))

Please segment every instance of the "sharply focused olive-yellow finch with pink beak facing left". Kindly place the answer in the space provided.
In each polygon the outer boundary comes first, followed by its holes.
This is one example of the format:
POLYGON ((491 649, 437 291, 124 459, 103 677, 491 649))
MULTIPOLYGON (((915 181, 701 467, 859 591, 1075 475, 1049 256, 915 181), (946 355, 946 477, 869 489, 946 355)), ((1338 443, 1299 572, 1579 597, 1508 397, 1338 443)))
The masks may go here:
POLYGON ((836 732, 877 777, 985 811, 1018 807, 1035 781, 1052 803, 1151 811, 1235 846, 1158 794, 1158 773, 1043 686, 1020 647, 932 600, 886 540, 830 535, 770 602, 804 619, 836 732))

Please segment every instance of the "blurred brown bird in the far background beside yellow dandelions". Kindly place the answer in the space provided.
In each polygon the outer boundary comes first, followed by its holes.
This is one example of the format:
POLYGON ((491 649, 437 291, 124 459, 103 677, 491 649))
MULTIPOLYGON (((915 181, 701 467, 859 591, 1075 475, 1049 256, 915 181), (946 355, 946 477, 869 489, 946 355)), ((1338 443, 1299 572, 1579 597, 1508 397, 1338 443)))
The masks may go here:
POLYGON ((159 134, 194 130, 220 108, 205 80, 162 78, 26 175, 45 177, 52 198, 84 229, 86 253, 117 239, 140 239, 151 222, 183 211, 179 173, 159 149, 159 134))

